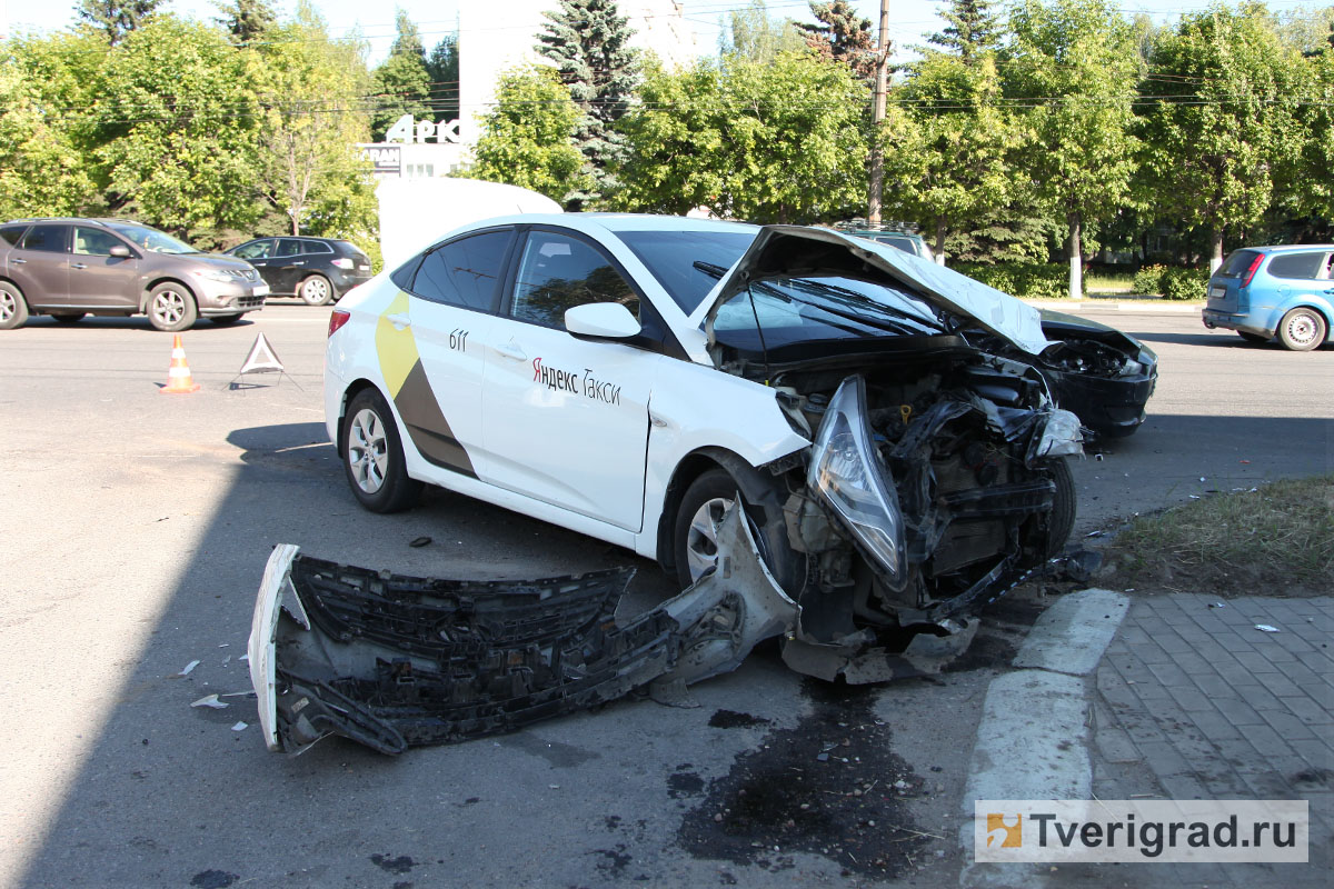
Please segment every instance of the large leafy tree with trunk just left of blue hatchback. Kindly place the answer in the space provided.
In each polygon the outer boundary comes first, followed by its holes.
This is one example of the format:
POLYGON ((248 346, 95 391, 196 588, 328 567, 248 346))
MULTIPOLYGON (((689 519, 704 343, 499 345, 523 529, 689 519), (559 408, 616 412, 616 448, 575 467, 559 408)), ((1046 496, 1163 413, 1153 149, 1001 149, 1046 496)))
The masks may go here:
POLYGON ((1225 236, 1258 225, 1295 167, 1299 61, 1261 5, 1186 15, 1151 47, 1143 171, 1166 213, 1209 231, 1211 268, 1225 236))

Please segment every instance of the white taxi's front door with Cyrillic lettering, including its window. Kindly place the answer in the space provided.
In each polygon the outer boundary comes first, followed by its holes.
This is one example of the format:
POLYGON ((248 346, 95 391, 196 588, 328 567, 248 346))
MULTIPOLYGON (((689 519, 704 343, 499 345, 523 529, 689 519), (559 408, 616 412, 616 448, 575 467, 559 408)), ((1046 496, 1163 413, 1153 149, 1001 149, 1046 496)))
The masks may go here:
POLYGON ((643 295, 599 245, 531 229, 487 344, 487 481, 638 532, 643 525, 648 396, 662 355, 588 341, 564 311, 643 295))

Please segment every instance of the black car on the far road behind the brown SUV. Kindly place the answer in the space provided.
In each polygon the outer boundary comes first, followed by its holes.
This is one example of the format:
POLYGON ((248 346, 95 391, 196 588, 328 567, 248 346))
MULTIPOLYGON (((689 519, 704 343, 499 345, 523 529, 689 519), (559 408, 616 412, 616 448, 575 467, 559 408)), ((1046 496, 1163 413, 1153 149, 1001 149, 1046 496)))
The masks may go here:
POLYGON ((335 237, 260 237, 227 251, 264 276, 273 293, 327 305, 371 280, 371 257, 335 237))

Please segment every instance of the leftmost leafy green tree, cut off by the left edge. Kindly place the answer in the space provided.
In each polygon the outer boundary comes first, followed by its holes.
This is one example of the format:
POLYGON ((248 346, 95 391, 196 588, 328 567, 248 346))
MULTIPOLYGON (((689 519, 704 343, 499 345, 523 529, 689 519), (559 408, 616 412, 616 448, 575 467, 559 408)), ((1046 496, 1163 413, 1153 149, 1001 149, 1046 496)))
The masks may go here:
POLYGON ((107 52, 100 37, 64 32, 0 53, 0 219, 72 215, 96 200, 83 109, 107 52))

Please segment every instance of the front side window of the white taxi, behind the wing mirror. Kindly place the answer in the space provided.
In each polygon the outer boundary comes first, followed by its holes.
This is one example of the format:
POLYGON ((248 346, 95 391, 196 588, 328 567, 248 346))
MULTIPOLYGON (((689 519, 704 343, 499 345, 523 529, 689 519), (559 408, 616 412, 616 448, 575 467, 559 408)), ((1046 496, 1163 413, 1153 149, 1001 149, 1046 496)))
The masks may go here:
POLYGON ((607 257, 567 235, 531 232, 510 313, 520 321, 564 329, 566 309, 584 303, 620 303, 639 317, 639 295, 607 257))

